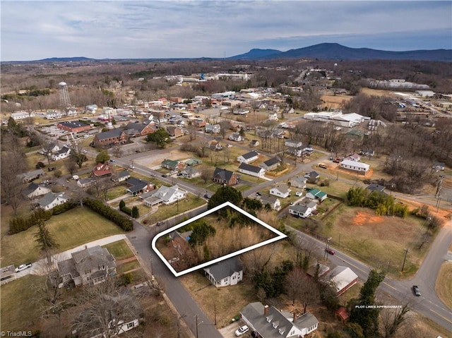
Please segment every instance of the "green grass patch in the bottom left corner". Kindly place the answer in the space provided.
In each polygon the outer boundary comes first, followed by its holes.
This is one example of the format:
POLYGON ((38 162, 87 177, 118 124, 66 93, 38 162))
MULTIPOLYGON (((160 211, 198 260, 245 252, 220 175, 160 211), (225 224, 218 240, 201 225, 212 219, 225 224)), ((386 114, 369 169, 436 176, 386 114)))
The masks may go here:
POLYGON ((28 274, 1 286, 1 330, 36 330, 40 309, 35 300, 33 285, 44 282, 45 277, 28 274), (25 312, 26 311, 26 312, 25 312))

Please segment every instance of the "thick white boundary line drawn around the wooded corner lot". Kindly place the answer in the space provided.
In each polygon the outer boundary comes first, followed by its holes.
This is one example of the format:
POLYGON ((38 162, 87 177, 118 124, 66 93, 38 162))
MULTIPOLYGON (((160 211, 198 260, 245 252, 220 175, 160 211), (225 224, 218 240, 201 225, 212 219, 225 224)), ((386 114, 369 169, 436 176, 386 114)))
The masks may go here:
POLYGON ((165 231, 160 232, 160 234, 157 234, 157 236, 154 237, 153 241, 152 241, 152 248, 153 251, 155 251, 155 253, 160 257, 160 259, 162 260, 162 262, 165 263, 165 265, 168 267, 169 271, 171 271, 174 276, 179 277, 182 276, 183 274, 187 274, 189 272, 194 272, 196 270, 202 269, 203 267, 208 267, 209 265, 213 265, 217 262, 221 262, 222 260, 227 260, 227 258, 231 258, 237 255, 241 255, 242 253, 246 253, 248 251, 254 250, 256 248, 260 248, 261 246, 266 246, 267 244, 273 243, 275 241, 279 241, 280 239, 285 239, 287 236, 285 234, 283 234, 281 231, 270 227, 270 225, 266 224, 266 222, 261 221, 261 219, 258 219, 257 217, 254 217, 253 215, 249 214, 248 212, 246 212, 245 210, 243 210, 240 207, 237 207, 237 205, 234 205, 230 202, 225 202, 222 205, 218 205, 217 207, 214 207, 213 209, 207 210, 206 212, 203 212, 199 215, 196 215, 195 217, 192 217, 191 219, 187 219, 186 221, 179 223, 177 225, 175 225, 174 227, 171 227, 165 231), (186 270, 182 270, 180 272, 177 272, 176 270, 174 270, 174 268, 172 267, 171 264, 169 264, 169 262, 167 261, 167 259, 162 255, 162 253, 160 253, 160 251, 158 251, 156 243, 157 243, 157 239, 160 239, 160 237, 165 236, 167 234, 169 234, 170 232, 179 229, 181 227, 184 227, 186 224, 189 224, 191 222, 196 221, 197 219, 200 219, 204 216, 210 215, 211 213, 218 211, 220 209, 222 209, 223 207, 232 207, 232 209, 237 210, 237 212, 240 212, 242 215, 245 215, 246 217, 249 217, 249 219, 254 220, 254 222, 257 222, 258 224, 261 224, 262 227, 266 227, 266 229, 272 231, 274 234, 277 234, 278 236, 273 237, 273 239, 268 239, 267 241, 263 241, 261 243, 257 243, 254 244, 254 246, 249 246, 248 248, 244 248, 241 249, 239 251, 234 251, 233 253, 228 253, 227 255, 221 256, 219 258, 215 258, 214 260, 209 260, 208 262, 204 262, 200 265, 196 265, 194 267, 190 267, 189 269, 186 270))

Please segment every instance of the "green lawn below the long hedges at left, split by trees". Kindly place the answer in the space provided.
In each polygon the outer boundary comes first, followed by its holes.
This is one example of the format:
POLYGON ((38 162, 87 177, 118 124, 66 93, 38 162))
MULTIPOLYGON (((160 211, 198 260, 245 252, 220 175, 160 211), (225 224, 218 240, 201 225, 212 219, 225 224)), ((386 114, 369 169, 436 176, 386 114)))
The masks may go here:
MULTIPOLYGON (((59 251, 80 246, 83 243, 102 239, 114 234, 122 234, 117 225, 88 208, 76 207, 64 214, 53 216, 47 222, 47 229, 59 244, 59 251)), ((40 253, 35 244, 36 228, 31 227, 19 234, 6 235, 1 239, 1 266, 35 262, 40 253)))

